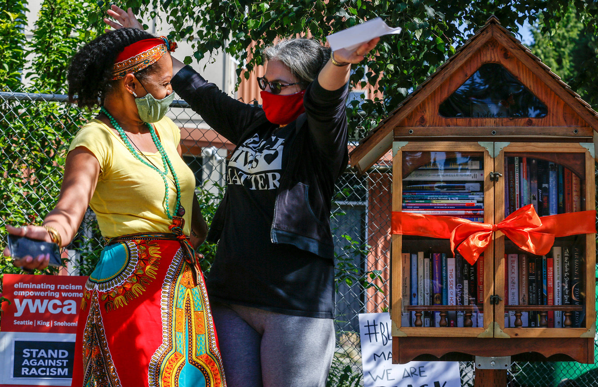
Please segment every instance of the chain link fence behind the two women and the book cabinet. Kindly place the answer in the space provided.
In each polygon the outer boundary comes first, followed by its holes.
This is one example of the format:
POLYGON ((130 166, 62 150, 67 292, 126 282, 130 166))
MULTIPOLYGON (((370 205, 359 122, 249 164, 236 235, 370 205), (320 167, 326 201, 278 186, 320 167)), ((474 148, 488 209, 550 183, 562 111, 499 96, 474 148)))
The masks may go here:
MULTIPOLYGON (((39 222, 53 208, 69 142, 94 115, 74 108, 60 92, 0 92, 0 215, 5 223, 39 222)), ((173 102, 168 115, 181 128, 183 157, 196 176, 202 212, 209 223, 221 199, 233 145, 182 100, 173 102)), ((349 148, 356 146, 362 132, 358 127, 352 133, 349 148)), ((329 386, 362 385, 358 313, 388 310, 391 173, 390 157, 386 157, 364 176, 347 170, 337 182, 331 219, 337 254, 337 350, 329 386)), ((94 214, 88 210, 66 251, 66 267, 54 274, 89 275, 102 243, 94 214)), ((204 249, 202 267, 209 271, 215 246, 204 249)), ((0 269, 2 274, 19 273, 6 261, 0 261, 0 269)), ((473 386, 473 363, 461 362, 460 371, 462 385, 473 386)), ((517 362, 509 370, 509 386, 557 385, 596 386, 598 368, 573 362, 517 362)))

